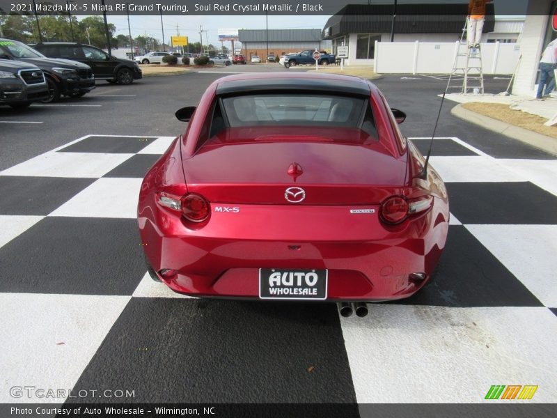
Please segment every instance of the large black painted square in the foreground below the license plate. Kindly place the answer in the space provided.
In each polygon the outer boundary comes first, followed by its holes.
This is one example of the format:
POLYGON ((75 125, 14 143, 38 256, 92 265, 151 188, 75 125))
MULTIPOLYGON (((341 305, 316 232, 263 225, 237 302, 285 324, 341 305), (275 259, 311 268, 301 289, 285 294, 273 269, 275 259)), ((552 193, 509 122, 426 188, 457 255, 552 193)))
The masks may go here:
MULTIPOLYGON (((87 387, 144 403, 356 402, 331 303, 134 297, 74 391, 87 387)), ((79 399, 102 401, 121 400, 79 399)))

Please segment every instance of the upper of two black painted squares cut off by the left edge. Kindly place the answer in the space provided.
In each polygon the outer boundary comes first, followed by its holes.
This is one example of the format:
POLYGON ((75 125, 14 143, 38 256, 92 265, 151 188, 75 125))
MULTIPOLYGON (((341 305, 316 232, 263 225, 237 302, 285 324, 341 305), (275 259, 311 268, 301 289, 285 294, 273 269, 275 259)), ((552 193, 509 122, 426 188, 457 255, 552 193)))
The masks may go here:
POLYGON ((95 180, 0 176, 0 215, 48 215, 95 180))

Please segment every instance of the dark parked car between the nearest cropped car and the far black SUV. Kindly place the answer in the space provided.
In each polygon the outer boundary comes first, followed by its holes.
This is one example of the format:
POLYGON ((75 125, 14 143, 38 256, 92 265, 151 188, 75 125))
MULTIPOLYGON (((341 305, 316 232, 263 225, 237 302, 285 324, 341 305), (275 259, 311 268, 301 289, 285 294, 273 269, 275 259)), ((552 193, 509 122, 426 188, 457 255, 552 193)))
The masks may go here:
POLYGON ((80 98, 95 88, 95 77, 89 65, 68 59, 47 58, 17 40, 0 38, 0 59, 23 61, 45 73, 49 96, 44 102, 55 102, 61 95, 80 98))

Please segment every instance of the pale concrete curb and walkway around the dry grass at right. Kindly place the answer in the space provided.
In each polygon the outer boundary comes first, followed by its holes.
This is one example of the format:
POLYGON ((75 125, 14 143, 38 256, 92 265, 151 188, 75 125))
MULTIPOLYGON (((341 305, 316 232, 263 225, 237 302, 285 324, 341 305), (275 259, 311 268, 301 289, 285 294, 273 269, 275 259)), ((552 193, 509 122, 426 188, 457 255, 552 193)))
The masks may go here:
POLYGON ((508 137, 517 139, 531 146, 541 148, 553 155, 557 155, 557 139, 548 137, 547 135, 524 129, 517 125, 507 122, 498 121, 489 116, 476 113, 469 109, 464 109, 462 103, 483 102, 483 103, 500 103, 508 104, 510 109, 524 111, 528 114, 541 116, 545 119, 551 119, 557 115, 557 98, 548 98, 546 100, 535 100, 535 98, 519 95, 478 95, 478 94, 460 94, 451 93, 445 96, 447 100, 457 102, 457 106, 451 109, 450 113, 476 125, 485 127, 486 129, 498 132, 508 137))

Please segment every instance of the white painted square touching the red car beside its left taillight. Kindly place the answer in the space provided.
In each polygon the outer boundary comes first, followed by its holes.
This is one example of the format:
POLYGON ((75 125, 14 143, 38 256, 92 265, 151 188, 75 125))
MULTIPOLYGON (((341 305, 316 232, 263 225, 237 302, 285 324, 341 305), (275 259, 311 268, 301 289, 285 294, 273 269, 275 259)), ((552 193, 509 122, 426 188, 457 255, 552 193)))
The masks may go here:
POLYGON ((49 216, 137 217, 141 178, 100 178, 49 216))

